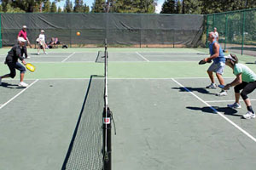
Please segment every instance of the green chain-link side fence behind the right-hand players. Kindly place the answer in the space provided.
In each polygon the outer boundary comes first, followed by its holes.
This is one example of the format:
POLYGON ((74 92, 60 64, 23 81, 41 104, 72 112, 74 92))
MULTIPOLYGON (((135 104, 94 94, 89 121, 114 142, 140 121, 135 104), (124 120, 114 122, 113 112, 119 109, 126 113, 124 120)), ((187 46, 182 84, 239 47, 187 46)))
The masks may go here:
POLYGON ((214 27, 224 49, 256 56, 256 8, 208 14, 207 33, 214 27))

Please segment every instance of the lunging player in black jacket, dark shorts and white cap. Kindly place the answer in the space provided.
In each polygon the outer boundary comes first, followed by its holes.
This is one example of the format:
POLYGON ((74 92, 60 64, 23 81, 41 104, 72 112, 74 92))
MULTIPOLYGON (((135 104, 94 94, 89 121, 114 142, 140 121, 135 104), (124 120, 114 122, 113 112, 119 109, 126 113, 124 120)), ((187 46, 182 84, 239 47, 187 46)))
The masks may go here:
POLYGON ((23 82, 24 75, 26 72, 26 68, 23 65, 26 65, 26 61, 21 56, 21 48, 25 44, 26 44, 26 40, 23 37, 19 37, 18 44, 16 44, 14 47, 11 48, 11 50, 9 50, 4 63, 8 65, 10 73, 0 77, 0 85, 3 78, 8 78, 8 77, 14 78, 16 76, 15 69, 17 69, 20 71, 20 83, 18 86, 24 87, 24 88, 28 86, 25 82, 23 82), (18 59, 21 60, 23 65, 20 64, 18 59))

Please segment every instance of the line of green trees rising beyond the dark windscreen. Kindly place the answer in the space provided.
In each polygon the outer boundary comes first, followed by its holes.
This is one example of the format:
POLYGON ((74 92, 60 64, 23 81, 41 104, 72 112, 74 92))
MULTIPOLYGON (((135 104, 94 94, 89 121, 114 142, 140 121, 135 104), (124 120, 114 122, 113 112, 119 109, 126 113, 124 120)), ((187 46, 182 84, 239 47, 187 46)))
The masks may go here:
MULTIPOLYGON (((0 11, 5 13, 65 12, 89 13, 86 0, 0 0, 0 11), (56 8, 65 2, 63 10, 56 8)), ((157 0, 95 0, 92 13, 154 13, 157 0)), ((161 14, 213 14, 244 8, 256 8, 255 0, 165 0, 161 14)))

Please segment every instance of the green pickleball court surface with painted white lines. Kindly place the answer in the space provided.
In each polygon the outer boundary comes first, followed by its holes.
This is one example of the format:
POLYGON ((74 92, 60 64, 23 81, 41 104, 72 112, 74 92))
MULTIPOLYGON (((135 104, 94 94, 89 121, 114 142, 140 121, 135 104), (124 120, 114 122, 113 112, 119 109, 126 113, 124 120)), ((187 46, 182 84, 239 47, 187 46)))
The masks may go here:
MULTIPOLYGON (((28 88, 0 86, 0 169, 101 169, 103 48, 28 49, 28 88)), ((3 63, 8 49, 0 50, 3 63)), ((113 170, 240 170, 256 166, 256 123, 234 91, 207 89, 201 48, 108 48, 113 170)), ((253 71, 255 58, 238 55, 253 71)), ((9 69, 0 65, 0 75, 9 69)), ((235 76, 225 68, 224 81, 235 76)), ((216 80, 217 81, 217 80, 216 80)), ((217 81, 218 82, 218 81, 217 81)), ((256 94, 249 94, 252 105, 256 94)), ((254 107, 254 110, 256 108, 254 107)))

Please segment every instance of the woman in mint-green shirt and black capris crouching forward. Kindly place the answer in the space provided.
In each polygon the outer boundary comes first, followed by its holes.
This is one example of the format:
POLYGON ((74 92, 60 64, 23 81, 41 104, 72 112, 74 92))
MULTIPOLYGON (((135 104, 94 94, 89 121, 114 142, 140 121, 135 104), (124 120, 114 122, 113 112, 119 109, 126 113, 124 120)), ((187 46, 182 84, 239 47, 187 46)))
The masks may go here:
POLYGON ((245 119, 255 118, 253 107, 247 94, 252 93, 256 88, 256 74, 251 69, 249 69, 247 65, 238 64, 238 59, 235 54, 230 54, 225 58, 225 64, 230 66, 230 68, 233 70, 233 73, 236 75, 236 79, 224 87, 224 90, 227 90, 230 87, 235 86, 235 103, 228 105, 228 107, 233 109, 241 108, 241 105, 239 104, 239 98, 241 96, 241 98, 244 100, 244 103, 247 105, 247 113, 243 115, 243 117, 245 119))

